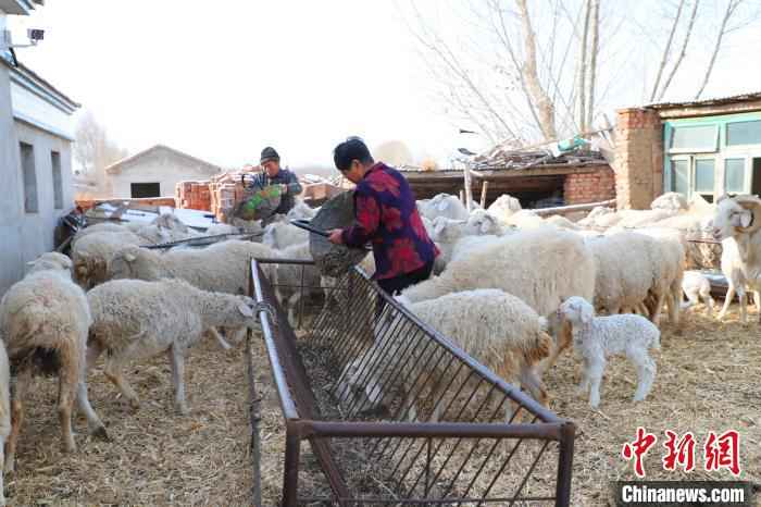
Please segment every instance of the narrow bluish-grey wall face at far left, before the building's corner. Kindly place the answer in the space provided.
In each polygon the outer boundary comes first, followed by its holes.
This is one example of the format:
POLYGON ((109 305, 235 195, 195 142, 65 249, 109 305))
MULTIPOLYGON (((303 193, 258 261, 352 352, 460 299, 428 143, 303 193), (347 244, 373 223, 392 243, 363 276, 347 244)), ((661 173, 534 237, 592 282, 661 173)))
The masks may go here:
POLYGON ((9 69, 0 64, 0 295, 24 274, 22 255, 23 183, 18 140, 11 109, 9 69))

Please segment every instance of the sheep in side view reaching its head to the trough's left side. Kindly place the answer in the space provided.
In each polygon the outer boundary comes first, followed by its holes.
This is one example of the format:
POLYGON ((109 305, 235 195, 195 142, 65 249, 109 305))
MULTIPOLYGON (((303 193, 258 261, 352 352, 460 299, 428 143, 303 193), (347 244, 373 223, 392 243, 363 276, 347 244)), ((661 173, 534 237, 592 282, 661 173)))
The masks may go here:
POLYGON ((185 400, 185 357, 204 331, 222 325, 252 327, 258 306, 247 296, 201 290, 182 280, 115 280, 87 294, 92 311, 88 370, 103 353, 105 376, 133 408, 140 401, 122 375, 130 359, 167 354, 172 364, 175 408, 189 412, 185 400))

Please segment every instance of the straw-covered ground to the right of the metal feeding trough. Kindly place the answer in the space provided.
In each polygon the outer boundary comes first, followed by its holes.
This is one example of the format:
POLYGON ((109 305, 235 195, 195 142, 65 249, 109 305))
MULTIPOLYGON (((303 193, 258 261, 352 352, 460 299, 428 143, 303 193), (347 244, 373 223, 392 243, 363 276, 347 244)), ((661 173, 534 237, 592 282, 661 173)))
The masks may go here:
POLYGON ((638 404, 632 401, 636 372, 625 359, 609 362, 596 411, 576 394, 578 361, 567 354, 561 357, 545 381, 551 409, 577 425, 571 505, 607 505, 609 481, 636 479, 621 449, 625 442, 634 441, 639 425, 658 437, 645 457, 647 480, 732 480, 726 471, 702 468, 707 433, 732 429, 740 434, 739 480, 761 482, 761 333, 752 322, 756 313, 749 311, 748 317, 751 322, 744 326, 733 306, 720 323, 709 319, 700 305, 682 313, 681 335, 664 323, 661 350, 651 351, 658 363, 656 382, 647 399, 638 404), (693 472, 663 470, 665 430, 679 436, 694 433, 693 472))

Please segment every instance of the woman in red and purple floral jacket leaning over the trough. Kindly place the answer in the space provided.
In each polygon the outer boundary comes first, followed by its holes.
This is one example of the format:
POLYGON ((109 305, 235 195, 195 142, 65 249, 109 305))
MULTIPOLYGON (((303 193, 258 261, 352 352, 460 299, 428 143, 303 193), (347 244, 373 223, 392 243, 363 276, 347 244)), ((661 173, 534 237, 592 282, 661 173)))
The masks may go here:
POLYGON ((388 294, 427 280, 439 255, 417 212, 415 196, 399 171, 375 162, 365 144, 351 137, 336 147, 336 168, 357 184, 355 223, 330 232, 338 245, 373 246, 375 274, 388 294))

